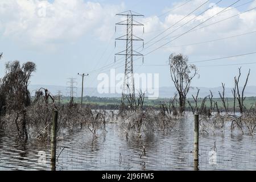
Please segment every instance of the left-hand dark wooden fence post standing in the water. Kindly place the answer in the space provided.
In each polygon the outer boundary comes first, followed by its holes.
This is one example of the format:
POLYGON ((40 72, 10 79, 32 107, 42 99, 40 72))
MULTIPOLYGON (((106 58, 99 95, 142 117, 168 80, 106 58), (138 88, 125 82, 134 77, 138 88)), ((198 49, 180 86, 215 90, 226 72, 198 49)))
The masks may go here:
POLYGON ((51 168, 56 169, 56 135, 57 135, 57 119, 58 111, 54 110, 52 114, 52 134, 51 134, 51 168))

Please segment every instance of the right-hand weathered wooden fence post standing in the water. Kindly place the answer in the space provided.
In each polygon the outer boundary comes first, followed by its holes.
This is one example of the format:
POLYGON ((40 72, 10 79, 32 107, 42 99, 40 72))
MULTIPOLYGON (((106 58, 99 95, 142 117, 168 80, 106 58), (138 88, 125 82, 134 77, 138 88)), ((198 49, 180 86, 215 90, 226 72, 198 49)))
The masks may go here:
POLYGON ((194 138, 194 169, 197 171, 199 166, 199 114, 195 113, 195 138, 194 138))

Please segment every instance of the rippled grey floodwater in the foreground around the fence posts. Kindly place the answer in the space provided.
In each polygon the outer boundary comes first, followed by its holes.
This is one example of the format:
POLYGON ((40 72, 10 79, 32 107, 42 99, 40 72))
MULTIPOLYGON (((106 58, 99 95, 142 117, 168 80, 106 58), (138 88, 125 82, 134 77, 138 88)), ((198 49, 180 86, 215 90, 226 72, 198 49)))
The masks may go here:
MULTIPOLYGON (((107 124, 106 130, 98 138, 88 129, 69 131, 57 142, 56 170, 193 170, 192 118, 181 119, 171 133, 144 133, 141 138, 126 138, 117 123, 107 124), (143 146, 146 156, 141 155, 143 146)), ((200 170, 256 170, 255 136, 228 130, 200 135, 200 170), (214 142, 216 160, 209 163, 214 142)), ((20 143, 15 132, 0 130, 0 169, 51 170, 49 148, 34 140, 20 143)))

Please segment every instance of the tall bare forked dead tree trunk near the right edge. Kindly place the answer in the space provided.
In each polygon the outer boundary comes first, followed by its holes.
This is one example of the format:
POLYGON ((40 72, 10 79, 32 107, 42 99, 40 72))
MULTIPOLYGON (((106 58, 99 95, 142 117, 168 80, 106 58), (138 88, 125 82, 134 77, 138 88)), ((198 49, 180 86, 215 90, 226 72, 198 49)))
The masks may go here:
POLYGON ((245 88, 246 88, 246 85, 247 85, 247 82, 248 82, 248 78, 249 78, 249 75, 250 75, 250 69, 249 69, 249 72, 247 74, 245 84, 243 85, 242 93, 240 92, 240 89, 239 89, 239 81, 240 81, 240 77, 241 77, 241 67, 238 68, 238 69, 239 69, 239 75, 238 75, 238 77, 234 78, 234 82, 235 82, 236 89, 237 89, 238 107, 240 109, 240 113, 242 114, 243 111, 244 111, 244 108, 245 108, 245 106, 243 105, 243 101, 245 101, 245 98, 246 98, 244 96, 244 92, 245 92, 245 88))

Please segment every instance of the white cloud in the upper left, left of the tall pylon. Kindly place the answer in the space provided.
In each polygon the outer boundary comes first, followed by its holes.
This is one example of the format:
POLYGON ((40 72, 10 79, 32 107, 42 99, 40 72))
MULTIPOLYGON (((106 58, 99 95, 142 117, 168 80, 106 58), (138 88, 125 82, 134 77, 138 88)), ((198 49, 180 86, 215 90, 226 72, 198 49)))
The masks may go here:
POLYGON ((102 6, 83 0, 0 1, 0 31, 32 45, 72 42, 88 32, 104 36, 115 22, 114 13, 122 9, 123 5, 102 6))

